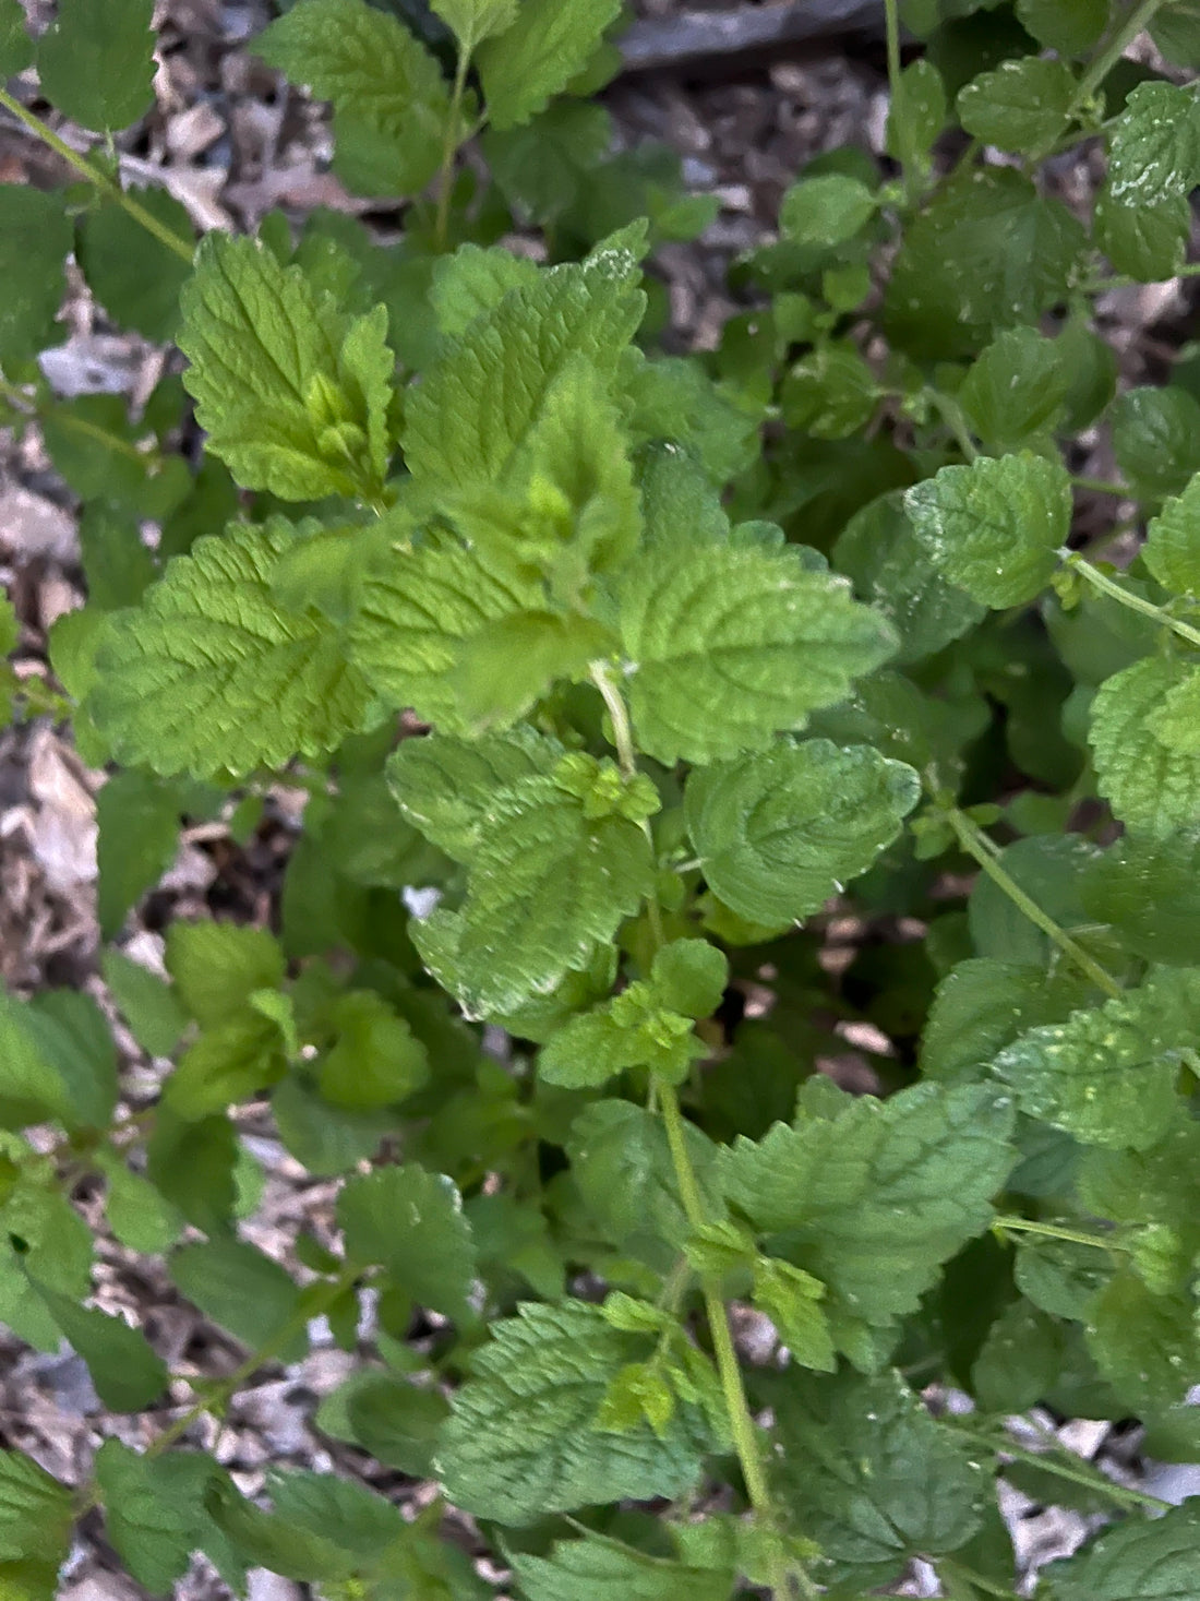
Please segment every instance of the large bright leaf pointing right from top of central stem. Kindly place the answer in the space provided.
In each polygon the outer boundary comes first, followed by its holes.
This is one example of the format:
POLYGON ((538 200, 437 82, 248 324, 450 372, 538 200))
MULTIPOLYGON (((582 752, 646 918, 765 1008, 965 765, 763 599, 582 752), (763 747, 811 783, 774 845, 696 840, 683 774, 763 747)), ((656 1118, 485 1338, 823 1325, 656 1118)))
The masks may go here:
POLYGON ((848 583, 795 548, 645 549, 619 607, 637 741, 667 764, 763 749, 894 648, 848 583))

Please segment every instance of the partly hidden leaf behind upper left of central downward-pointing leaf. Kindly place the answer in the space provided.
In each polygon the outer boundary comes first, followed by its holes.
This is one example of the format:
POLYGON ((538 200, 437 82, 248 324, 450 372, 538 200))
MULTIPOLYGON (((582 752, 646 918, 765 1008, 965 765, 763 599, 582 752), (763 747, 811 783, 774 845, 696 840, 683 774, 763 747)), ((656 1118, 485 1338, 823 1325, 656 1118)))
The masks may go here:
POLYGON ((430 735, 405 740, 387 760, 397 805, 456 861, 470 861, 488 828, 493 796, 522 778, 546 775, 563 754, 557 740, 522 725, 478 740, 430 735))

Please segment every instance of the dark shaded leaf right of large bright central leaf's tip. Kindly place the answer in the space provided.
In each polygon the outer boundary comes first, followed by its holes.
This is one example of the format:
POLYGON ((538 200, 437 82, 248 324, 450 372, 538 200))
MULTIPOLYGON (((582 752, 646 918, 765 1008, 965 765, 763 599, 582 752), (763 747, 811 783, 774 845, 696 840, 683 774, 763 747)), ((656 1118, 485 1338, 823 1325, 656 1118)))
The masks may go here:
POLYGON ((934 655, 984 615, 925 554, 898 493, 854 512, 834 546, 834 565, 899 634, 898 663, 934 655))

